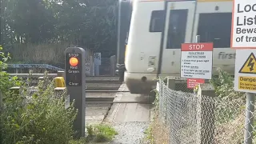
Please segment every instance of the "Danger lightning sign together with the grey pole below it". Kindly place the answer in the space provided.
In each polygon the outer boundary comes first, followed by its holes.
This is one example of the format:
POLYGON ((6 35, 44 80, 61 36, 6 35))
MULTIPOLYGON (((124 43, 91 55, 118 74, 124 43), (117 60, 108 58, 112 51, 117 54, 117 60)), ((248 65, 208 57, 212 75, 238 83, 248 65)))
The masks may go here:
POLYGON ((256 92, 256 50, 236 50, 234 90, 246 92, 246 120, 244 141, 252 143, 254 101, 256 92))

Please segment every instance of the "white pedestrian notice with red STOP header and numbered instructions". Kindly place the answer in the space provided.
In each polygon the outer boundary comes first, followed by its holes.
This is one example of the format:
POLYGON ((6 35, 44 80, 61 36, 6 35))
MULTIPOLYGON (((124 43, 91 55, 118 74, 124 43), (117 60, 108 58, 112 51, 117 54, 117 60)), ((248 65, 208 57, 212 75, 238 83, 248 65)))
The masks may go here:
POLYGON ((213 43, 183 43, 181 78, 211 79, 213 43))

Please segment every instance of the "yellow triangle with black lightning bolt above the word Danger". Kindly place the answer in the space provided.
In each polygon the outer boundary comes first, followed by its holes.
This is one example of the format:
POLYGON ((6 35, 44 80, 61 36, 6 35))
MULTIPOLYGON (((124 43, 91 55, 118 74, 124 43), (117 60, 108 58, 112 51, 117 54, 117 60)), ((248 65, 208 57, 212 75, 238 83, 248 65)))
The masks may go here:
POLYGON ((246 59, 246 62, 242 65, 239 73, 256 74, 256 58, 254 53, 251 53, 250 56, 246 59))

